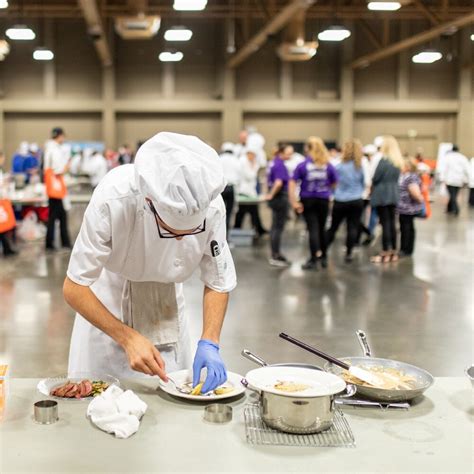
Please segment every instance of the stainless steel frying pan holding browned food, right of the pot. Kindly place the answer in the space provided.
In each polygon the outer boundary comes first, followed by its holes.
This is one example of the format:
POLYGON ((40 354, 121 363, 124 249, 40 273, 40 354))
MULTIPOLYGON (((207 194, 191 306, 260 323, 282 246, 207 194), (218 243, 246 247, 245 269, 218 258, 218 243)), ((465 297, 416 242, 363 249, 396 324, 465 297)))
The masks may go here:
MULTIPOLYGON (((415 378, 414 388, 409 390, 386 390, 354 384, 357 387, 358 397, 365 397, 378 402, 406 402, 422 395, 433 384, 433 376, 424 369, 397 360, 372 357, 372 351, 365 333, 359 330, 356 334, 364 350, 365 357, 340 357, 341 361, 364 368, 382 367, 397 369, 415 378)), ((331 363, 325 364, 324 369, 339 376, 343 372, 343 369, 331 363)))

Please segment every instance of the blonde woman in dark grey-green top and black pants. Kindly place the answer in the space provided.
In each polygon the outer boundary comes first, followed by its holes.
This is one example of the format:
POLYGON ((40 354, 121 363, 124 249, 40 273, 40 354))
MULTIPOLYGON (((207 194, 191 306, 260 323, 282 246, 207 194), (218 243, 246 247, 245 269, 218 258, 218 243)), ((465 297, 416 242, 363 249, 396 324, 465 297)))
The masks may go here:
POLYGON ((398 178, 403 166, 403 156, 397 140, 384 136, 380 147, 382 158, 372 178, 370 205, 375 207, 382 226, 382 251, 371 258, 372 263, 398 260, 395 211, 399 201, 398 178))

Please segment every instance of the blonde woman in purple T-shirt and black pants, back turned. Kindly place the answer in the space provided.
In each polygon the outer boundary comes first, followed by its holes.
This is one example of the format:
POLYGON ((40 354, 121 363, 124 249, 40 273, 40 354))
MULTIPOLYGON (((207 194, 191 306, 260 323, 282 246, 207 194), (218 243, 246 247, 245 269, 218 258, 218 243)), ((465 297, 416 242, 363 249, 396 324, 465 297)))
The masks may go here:
POLYGON ((300 163, 290 180, 290 202, 298 214, 303 214, 309 232, 310 258, 303 270, 316 270, 318 259, 327 267, 325 227, 329 198, 336 187, 337 172, 329 163, 329 153, 319 137, 309 137, 306 142, 307 158, 300 163), (300 201, 296 184, 300 184, 300 201))

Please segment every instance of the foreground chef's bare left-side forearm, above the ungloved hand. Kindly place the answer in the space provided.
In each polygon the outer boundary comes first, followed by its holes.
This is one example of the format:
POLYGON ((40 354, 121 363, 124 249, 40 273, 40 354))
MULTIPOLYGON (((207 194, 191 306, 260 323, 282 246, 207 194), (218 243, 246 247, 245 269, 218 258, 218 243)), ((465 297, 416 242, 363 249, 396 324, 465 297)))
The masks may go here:
POLYGON ((78 285, 66 277, 63 285, 66 303, 93 326, 124 345, 130 328, 119 321, 95 296, 88 286, 78 285))

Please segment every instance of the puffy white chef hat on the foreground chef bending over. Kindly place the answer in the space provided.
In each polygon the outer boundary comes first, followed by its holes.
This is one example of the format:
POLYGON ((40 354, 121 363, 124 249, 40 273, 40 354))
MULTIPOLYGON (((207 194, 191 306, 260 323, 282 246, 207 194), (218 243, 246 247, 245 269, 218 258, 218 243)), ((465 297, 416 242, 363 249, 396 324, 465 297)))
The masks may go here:
POLYGON ((178 133, 147 140, 137 152, 135 173, 140 192, 176 230, 199 227, 226 185, 217 153, 199 138, 178 133))

